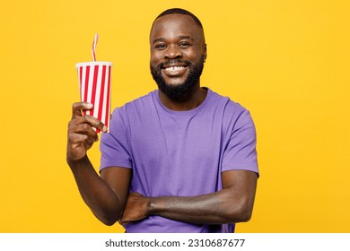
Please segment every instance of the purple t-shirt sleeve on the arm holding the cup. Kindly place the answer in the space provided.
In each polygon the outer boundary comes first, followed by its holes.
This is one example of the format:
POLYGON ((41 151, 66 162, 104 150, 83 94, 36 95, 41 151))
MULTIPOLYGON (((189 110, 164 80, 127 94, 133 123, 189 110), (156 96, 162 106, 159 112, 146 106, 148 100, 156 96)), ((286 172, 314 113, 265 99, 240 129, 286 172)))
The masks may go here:
POLYGON ((109 133, 101 134, 101 169, 109 167, 132 168, 132 159, 127 138, 127 117, 120 108, 113 111, 109 133))

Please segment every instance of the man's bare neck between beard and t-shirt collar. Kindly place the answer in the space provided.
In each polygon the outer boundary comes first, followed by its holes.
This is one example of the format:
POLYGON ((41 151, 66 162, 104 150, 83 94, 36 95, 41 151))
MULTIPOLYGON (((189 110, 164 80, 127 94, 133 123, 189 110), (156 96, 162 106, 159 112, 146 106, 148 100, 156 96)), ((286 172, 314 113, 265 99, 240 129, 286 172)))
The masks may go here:
POLYGON ((206 93, 207 90, 201 88, 198 84, 191 91, 178 99, 169 97, 161 90, 159 91, 159 98, 166 108, 174 111, 185 111, 199 107, 203 101, 206 100, 206 93))

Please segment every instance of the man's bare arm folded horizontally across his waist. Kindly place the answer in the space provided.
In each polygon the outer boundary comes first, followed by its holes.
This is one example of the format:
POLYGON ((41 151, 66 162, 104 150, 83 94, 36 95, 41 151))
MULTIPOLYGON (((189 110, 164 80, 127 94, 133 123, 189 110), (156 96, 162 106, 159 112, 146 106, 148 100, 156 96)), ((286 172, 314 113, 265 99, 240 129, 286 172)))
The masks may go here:
POLYGON ((138 221, 149 215, 160 215, 190 223, 223 224, 249 221, 258 175, 246 170, 228 170, 224 171, 222 176, 223 190, 208 195, 144 197, 131 194, 119 222, 123 224, 138 221))

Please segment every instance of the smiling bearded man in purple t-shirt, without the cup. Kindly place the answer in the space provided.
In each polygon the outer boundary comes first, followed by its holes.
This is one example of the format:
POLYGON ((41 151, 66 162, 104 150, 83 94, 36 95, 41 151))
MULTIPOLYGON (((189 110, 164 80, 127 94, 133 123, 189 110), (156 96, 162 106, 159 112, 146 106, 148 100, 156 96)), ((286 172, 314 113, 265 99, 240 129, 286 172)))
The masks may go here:
POLYGON ((113 112, 101 135, 101 177, 86 151, 98 140, 74 103, 67 162, 84 202, 127 232, 233 232, 249 221, 258 179, 255 127, 239 104, 200 86, 206 41, 196 16, 161 13, 150 32, 158 90, 113 112))

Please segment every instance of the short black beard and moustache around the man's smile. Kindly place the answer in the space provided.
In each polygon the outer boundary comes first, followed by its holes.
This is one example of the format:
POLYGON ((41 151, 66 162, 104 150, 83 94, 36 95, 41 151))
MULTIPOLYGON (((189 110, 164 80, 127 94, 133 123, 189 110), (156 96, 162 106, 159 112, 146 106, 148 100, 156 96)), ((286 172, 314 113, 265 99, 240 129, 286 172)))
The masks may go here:
MULTIPOLYGON (((174 63, 174 61, 179 62, 178 60, 171 60, 171 63, 174 63)), ((192 65, 188 61, 182 61, 182 63, 186 63, 186 65, 189 67, 189 74, 184 82, 177 85, 172 85, 165 82, 164 78, 162 77, 162 67, 166 63, 162 63, 157 66, 150 64, 151 74, 153 76, 153 80, 157 83, 158 88, 173 100, 179 100, 179 98, 191 91, 193 87, 196 86, 204 68, 203 58, 196 65, 192 65)))

